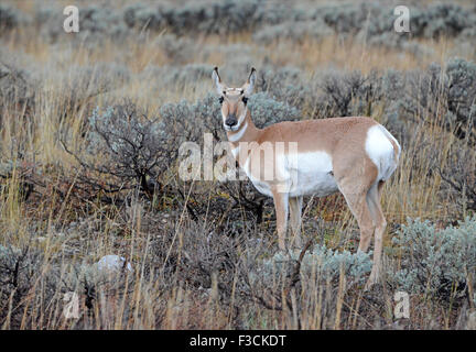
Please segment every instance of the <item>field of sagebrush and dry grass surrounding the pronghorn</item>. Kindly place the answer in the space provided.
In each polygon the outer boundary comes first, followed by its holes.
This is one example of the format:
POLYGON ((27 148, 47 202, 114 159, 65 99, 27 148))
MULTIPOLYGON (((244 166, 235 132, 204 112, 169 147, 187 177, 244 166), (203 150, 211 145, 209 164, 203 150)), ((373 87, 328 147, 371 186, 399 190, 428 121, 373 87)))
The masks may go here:
POLYGON ((476 327, 470 1, 410 1, 410 33, 393 1, 76 2, 79 33, 68 1, 0 6, 2 329, 476 327), (400 141, 372 290, 340 195, 305 199, 312 245, 286 263, 248 182, 177 177, 181 142, 225 139, 214 66, 230 86, 258 69, 263 124, 371 116, 400 141))

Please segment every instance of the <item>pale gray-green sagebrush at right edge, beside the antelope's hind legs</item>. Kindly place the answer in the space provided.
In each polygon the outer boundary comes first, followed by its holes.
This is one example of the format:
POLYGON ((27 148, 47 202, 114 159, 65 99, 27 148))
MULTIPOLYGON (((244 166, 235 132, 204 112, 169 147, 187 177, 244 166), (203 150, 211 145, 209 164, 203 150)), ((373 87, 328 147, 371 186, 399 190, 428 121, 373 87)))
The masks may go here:
POLYGON ((397 288, 448 299, 475 285, 476 217, 443 230, 428 220, 409 219, 392 242, 401 253, 399 270, 389 273, 397 288))

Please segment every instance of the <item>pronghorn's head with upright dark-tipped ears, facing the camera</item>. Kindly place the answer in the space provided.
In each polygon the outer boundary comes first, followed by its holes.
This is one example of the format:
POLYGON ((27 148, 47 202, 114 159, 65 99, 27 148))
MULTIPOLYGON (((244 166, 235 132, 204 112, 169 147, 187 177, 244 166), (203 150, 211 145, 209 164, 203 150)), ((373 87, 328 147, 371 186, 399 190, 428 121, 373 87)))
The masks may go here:
POLYGON ((212 78, 221 103, 224 128, 228 132, 238 131, 248 112, 247 102, 255 88, 256 69, 251 68, 248 80, 241 88, 227 87, 218 75, 218 67, 215 67, 212 78))

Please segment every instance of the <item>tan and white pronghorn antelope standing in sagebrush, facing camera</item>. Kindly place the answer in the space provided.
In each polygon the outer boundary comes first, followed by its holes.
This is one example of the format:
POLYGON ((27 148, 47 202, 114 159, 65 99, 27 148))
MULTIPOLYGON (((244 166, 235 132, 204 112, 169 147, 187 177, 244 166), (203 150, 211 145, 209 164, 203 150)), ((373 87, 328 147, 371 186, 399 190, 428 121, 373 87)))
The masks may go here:
POLYGON ((256 81, 255 68, 241 88, 228 88, 217 67, 212 78, 235 158, 255 187, 274 200, 280 250, 286 251, 289 210, 292 243, 301 246, 303 196, 323 197, 338 190, 357 219, 358 250, 366 252, 375 234, 374 266, 366 287, 376 283, 387 226, 380 195, 383 183, 399 162, 397 140, 381 124, 365 117, 280 122, 261 130, 255 127, 247 108, 256 81), (288 144, 288 147, 278 147, 278 144, 288 144), (274 152, 266 154, 263 145, 271 145, 274 152), (260 157, 263 150, 264 160, 260 157), (266 177, 270 168, 274 168, 274 177, 266 177))

